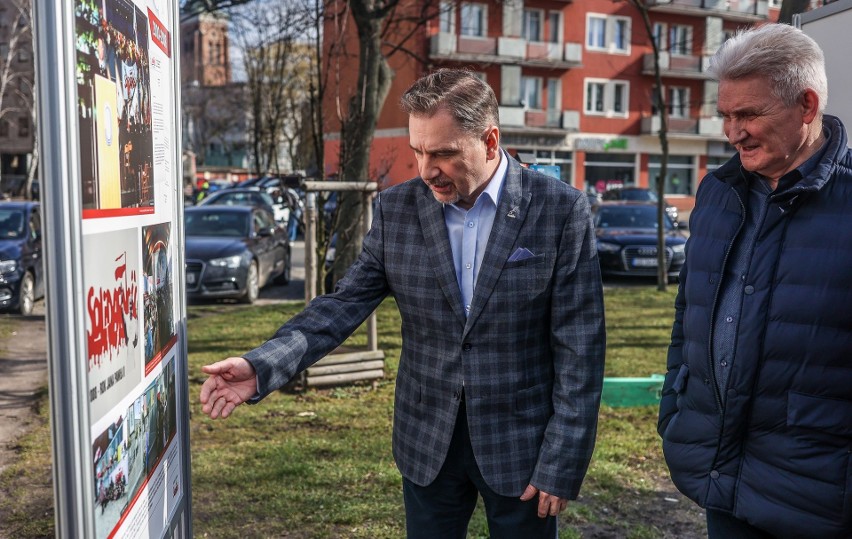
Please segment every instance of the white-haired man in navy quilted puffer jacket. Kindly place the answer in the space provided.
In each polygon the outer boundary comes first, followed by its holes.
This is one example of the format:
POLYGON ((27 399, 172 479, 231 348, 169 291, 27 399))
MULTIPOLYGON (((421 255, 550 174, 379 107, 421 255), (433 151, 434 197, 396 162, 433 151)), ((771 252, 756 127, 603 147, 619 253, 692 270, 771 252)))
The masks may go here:
POLYGON ((737 149, 701 182, 658 430, 711 538, 852 537, 852 152, 800 30, 711 61, 737 149))

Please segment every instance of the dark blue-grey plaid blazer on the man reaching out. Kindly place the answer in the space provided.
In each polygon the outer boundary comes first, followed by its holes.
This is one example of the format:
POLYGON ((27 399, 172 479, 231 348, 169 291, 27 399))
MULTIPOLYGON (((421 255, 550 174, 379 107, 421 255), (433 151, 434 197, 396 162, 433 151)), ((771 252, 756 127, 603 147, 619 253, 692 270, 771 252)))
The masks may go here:
POLYGON ((488 485, 573 499, 588 468, 603 383, 604 312, 588 200, 510 159, 465 318, 442 204, 419 178, 378 197, 363 250, 334 293, 247 353, 257 402, 334 350, 388 294, 402 316, 393 453, 431 483, 463 394, 488 485), (524 247, 534 256, 509 261, 524 247))

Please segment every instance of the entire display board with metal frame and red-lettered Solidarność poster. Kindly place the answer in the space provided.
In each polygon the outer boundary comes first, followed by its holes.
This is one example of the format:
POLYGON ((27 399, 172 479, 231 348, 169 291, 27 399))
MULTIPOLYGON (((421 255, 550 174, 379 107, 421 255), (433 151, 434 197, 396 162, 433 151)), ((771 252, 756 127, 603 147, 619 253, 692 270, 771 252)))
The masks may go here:
POLYGON ((33 4, 56 536, 190 537, 178 0, 33 4))

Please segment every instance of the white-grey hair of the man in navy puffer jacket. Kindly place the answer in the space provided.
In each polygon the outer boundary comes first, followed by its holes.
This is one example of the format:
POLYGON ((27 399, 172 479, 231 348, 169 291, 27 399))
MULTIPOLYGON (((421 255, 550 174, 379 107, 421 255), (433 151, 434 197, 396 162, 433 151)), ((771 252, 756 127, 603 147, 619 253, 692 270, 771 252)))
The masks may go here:
POLYGON ((828 103, 825 57, 816 41, 786 24, 740 30, 710 59, 708 73, 718 81, 763 77, 768 90, 786 106, 799 102, 805 90, 819 96, 819 112, 828 103))

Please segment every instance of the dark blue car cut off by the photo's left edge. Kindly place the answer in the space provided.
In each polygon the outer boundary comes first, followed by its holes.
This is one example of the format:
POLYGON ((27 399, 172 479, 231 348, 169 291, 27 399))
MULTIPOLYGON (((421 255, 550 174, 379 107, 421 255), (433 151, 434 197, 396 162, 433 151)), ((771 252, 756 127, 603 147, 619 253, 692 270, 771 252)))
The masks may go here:
POLYGON ((44 296, 37 202, 0 202, 0 310, 28 315, 44 296))

